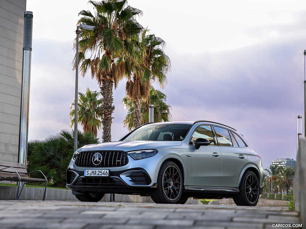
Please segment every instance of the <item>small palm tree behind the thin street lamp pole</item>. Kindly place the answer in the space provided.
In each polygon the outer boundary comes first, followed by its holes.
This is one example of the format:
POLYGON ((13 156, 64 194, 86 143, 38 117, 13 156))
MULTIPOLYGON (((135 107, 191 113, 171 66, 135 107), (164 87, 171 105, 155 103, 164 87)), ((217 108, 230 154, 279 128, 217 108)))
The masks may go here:
MULTIPOLYGON (((78 122, 83 126, 84 133, 92 133, 97 136, 98 129, 101 128, 103 117, 102 99, 97 91, 86 89, 86 93, 80 93, 78 97, 78 122)), ((74 106, 74 102, 70 105, 70 109, 74 106)), ((74 109, 69 113, 71 125, 74 124, 74 109)))

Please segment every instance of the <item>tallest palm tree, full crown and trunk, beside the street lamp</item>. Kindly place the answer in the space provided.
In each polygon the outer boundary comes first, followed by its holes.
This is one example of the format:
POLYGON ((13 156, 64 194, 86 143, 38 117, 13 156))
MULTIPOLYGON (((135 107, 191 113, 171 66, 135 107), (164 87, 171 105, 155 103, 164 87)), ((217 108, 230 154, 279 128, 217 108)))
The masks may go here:
MULTIPOLYGON (((111 141, 113 86, 117 87, 124 75, 123 49, 126 40, 138 36, 142 30, 136 16, 142 11, 127 4, 127 0, 89 1, 95 14, 82 10, 78 24, 95 26, 94 31, 80 34, 80 69, 84 76, 91 69, 91 77, 96 79, 103 96, 103 142, 111 141), (89 53, 89 58, 85 54, 89 53)), ((75 63, 76 60, 74 60, 75 63)))

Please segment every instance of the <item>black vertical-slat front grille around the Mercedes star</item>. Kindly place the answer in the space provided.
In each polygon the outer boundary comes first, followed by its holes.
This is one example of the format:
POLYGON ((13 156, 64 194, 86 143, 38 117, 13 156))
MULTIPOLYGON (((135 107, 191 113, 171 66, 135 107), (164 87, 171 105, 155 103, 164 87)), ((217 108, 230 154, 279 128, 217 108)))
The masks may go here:
POLYGON ((119 167, 126 165, 129 159, 125 152, 122 151, 84 151, 76 157, 75 165, 78 167, 119 167), (92 157, 95 153, 102 155, 102 161, 99 165, 92 162, 92 157))

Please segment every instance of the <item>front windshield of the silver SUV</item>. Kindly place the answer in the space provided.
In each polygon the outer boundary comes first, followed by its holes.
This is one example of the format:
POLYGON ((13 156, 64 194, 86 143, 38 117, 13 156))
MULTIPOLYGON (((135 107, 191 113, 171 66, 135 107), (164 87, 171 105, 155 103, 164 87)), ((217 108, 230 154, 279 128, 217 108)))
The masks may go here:
POLYGON ((123 141, 181 141, 185 138, 189 124, 144 125, 131 132, 123 141))

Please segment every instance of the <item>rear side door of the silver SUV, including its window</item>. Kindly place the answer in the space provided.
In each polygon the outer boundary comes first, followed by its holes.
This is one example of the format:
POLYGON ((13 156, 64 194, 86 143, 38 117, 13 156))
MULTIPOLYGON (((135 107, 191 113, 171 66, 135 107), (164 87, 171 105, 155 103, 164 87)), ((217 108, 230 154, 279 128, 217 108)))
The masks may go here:
POLYGON ((214 129, 222 154, 221 186, 237 187, 242 169, 248 164, 248 155, 239 147, 232 131, 219 126, 214 129))

